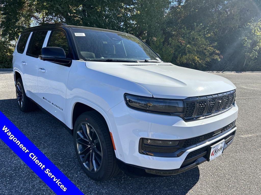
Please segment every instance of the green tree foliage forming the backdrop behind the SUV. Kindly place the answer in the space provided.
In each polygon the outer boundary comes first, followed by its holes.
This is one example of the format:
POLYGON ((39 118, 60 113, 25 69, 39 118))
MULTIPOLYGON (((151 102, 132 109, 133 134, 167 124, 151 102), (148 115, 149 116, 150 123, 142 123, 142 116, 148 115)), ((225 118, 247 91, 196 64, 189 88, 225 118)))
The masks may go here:
POLYGON ((65 22, 133 34, 179 66, 261 70, 260 0, 0 0, 0 6, 6 46, 25 28, 65 22))

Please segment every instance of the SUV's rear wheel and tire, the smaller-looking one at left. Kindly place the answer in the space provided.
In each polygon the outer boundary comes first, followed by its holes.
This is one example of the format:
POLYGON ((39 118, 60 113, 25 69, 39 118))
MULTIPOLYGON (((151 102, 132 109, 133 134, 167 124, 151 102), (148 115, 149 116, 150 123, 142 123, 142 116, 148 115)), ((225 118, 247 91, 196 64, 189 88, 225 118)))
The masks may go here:
POLYGON ((31 112, 37 108, 34 102, 30 100, 26 94, 25 89, 23 88, 23 82, 21 78, 16 80, 16 100, 18 106, 22 112, 31 112))

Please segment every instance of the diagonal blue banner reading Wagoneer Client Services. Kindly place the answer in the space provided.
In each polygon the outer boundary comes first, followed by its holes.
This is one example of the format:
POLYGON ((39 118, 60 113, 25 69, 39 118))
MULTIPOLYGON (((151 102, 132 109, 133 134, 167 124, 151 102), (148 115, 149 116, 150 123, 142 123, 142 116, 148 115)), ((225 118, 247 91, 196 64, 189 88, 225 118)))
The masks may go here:
POLYGON ((0 138, 56 194, 83 194, 2 112, 0 138))

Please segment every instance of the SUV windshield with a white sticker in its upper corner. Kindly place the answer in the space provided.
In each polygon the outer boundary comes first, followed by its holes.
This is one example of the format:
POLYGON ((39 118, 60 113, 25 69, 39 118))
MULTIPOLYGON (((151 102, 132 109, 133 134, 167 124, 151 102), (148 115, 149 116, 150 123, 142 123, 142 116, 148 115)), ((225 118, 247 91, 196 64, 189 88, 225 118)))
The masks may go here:
POLYGON ((78 55, 84 61, 161 61, 154 51, 135 36, 95 30, 74 30, 73 36, 78 55))

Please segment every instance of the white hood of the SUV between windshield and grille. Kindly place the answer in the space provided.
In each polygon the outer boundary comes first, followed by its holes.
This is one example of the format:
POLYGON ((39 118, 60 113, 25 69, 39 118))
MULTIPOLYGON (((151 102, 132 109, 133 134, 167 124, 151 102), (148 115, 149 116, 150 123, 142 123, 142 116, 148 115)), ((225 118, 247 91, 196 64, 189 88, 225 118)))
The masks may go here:
POLYGON ((236 88, 224 77, 171 63, 86 62, 86 67, 138 83, 158 98, 185 99, 236 88))

